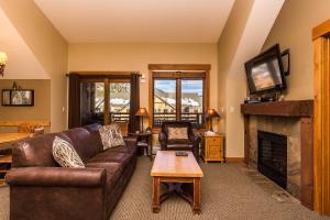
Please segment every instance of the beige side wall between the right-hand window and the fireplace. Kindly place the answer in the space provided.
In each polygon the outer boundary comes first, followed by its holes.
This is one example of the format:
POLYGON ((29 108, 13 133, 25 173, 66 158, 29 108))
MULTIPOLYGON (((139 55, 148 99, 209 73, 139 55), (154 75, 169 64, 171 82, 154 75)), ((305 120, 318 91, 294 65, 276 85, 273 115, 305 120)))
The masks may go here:
MULTIPOLYGON (((228 157, 243 156, 242 117, 238 108, 245 95, 244 75, 232 73, 241 38, 244 34, 246 21, 251 13, 254 0, 238 0, 234 2, 231 14, 218 42, 218 68, 220 97, 219 107, 222 112, 221 132, 227 134, 228 157), (234 109, 235 108, 235 109, 234 109)), ((241 73, 241 72, 239 72, 241 73)))

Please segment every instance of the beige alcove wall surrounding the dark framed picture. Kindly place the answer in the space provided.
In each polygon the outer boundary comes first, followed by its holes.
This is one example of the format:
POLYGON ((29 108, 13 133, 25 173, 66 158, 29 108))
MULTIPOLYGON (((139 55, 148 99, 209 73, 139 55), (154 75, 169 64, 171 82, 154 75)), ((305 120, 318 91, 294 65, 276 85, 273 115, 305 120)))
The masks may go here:
MULTIPOLYGON (((3 107, 0 106, 1 120, 46 120, 51 121, 51 80, 23 79, 0 80, 0 90, 11 89, 16 81, 23 89, 34 89, 33 107, 3 107), (4 117, 3 117, 4 116, 4 117)), ((1 131, 3 128, 0 128, 1 131)))

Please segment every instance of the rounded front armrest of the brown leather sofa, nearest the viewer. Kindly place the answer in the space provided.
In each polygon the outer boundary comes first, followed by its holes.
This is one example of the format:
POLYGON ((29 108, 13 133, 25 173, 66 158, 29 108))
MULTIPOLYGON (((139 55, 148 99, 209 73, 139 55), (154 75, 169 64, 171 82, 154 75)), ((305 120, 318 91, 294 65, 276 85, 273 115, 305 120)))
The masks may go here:
POLYGON ((20 167, 6 175, 10 186, 98 187, 106 185, 102 168, 20 167))

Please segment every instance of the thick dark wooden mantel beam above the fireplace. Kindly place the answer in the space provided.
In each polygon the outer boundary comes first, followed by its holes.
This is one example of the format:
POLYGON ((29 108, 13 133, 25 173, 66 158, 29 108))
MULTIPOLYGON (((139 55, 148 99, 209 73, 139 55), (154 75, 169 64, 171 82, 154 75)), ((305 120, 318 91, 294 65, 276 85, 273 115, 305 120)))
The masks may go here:
POLYGON ((274 117, 312 117, 314 100, 243 103, 243 114, 274 117))

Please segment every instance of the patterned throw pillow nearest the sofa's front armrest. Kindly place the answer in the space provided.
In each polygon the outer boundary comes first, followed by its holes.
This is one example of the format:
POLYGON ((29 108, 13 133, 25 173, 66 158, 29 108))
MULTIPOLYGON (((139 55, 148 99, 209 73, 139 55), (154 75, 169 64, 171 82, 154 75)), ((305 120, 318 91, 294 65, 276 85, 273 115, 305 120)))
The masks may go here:
POLYGON ((53 156, 62 167, 85 167, 73 145, 58 136, 53 142, 53 156))

